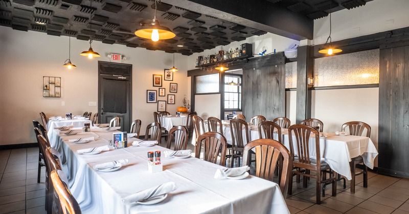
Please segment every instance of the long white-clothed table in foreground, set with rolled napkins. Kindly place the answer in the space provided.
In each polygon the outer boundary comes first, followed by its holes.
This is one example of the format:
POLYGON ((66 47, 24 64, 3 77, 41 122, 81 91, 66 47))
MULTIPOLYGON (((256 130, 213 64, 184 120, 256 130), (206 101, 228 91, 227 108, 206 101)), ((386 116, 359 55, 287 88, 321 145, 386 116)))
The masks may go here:
POLYGON ((279 186, 271 181, 252 175, 242 180, 215 179, 216 170, 224 167, 195 157, 162 156, 163 171, 149 173, 147 152, 171 151, 161 146, 78 154, 79 149, 108 145, 112 132, 97 127, 73 136, 53 130, 52 136, 50 143, 61 153, 71 192, 83 213, 289 213, 279 186), (86 137, 94 137, 95 141, 69 142, 86 137), (129 163, 118 171, 93 169, 96 164, 125 158, 129 163), (122 203, 124 197, 169 181, 175 182, 177 189, 160 203, 122 203))

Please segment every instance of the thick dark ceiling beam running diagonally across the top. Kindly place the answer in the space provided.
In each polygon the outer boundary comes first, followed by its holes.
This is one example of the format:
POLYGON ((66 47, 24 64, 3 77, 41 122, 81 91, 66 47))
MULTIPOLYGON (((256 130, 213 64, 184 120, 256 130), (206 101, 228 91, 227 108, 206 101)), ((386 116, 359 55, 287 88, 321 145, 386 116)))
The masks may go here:
POLYGON ((167 0, 166 3, 294 40, 313 39, 312 19, 264 0, 167 0))

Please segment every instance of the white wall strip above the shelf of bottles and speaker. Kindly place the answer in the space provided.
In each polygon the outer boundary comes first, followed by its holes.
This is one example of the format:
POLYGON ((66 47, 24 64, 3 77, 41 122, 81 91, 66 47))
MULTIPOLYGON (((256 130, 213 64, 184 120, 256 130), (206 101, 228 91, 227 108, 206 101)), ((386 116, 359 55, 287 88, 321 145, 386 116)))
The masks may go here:
MULTIPOLYGON (((276 52, 284 51, 287 48, 291 48, 294 45, 300 45, 300 41, 285 38, 282 36, 278 36, 275 34, 267 33, 261 36, 252 36, 246 38, 244 41, 239 41, 239 42, 232 42, 229 45, 224 45, 223 50, 230 50, 236 49, 236 47, 240 47, 241 44, 243 43, 251 43, 253 44, 253 54, 259 54, 260 52, 263 51, 263 47, 267 49, 266 53, 271 53, 274 52, 274 49, 276 49, 276 52)), ((208 56, 208 55, 213 55, 215 53, 218 53, 219 50, 221 50, 221 45, 210 49, 210 50, 205 50, 200 53, 193 53, 193 55, 189 56, 188 58, 188 70, 196 69, 196 59, 199 56, 208 56)), ((258 56, 255 56, 258 57, 258 56)))

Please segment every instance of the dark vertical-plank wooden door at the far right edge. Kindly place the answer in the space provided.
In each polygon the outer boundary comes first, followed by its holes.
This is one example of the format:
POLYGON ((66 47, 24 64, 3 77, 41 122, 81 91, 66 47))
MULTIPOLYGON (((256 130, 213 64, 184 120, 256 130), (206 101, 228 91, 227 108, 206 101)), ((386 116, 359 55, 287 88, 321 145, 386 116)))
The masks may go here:
POLYGON ((380 173, 409 177, 409 36, 385 39, 379 51, 380 173))

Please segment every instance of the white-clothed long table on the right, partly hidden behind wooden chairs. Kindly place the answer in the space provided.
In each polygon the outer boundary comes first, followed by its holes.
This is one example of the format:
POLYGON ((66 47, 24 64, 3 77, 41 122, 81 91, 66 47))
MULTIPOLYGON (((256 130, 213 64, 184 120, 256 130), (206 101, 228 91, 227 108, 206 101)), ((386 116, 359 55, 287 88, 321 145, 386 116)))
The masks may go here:
MULTIPOLYGON (((248 126, 248 138, 249 141, 259 139, 259 130, 255 125, 248 126)), ((205 130, 208 130, 207 123, 205 121, 205 130)), ((232 135, 230 131, 230 124, 223 121, 223 132, 228 144, 232 144, 232 135)), ((245 135, 244 132, 242 132, 245 135)), ((194 134, 195 135, 195 134, 194 134)), ((288 129, 283 128, 282 143, 290 150, 288 129)), ((274 135, 274 140, 278 140, 278 133, 274 135)), ((292 136, 293 147, 296 148, 296 138, 292 136)), ((193 136, 193 141, 195 136, 193 136)), ((243 138, 245 141, 245 138, 243 138)), ((193 143, 193 142, 192 142, 193 143)), ((247 142, 243 142, 244 145, 247 142)), ((315 138, 311 136, 309 142, 310 156, 315 157, 315 138)), ((328 165, 340 175, 345 176, 348 180, 352 179, 349 162, 351 158, 361 155, 363 162, 366 166, 373 169, 375 157, 378 155, 378 151, 372 140, 363 136, 337 136, 335 133, 327 133, 326 138, 320 138, 320 154, 321 160, 328 163, 328 165)), ((294 155, 297 155, 297 151, 294 151, 294 155)))

